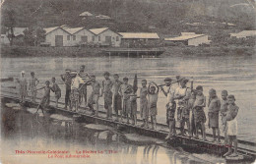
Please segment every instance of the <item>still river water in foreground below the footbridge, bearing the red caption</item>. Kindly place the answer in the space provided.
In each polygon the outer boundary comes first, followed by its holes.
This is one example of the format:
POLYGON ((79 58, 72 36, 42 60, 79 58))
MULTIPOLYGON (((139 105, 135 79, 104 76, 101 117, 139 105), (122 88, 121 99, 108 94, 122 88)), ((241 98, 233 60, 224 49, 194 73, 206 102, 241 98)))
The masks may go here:
MULTIPOLYGON (((87 123, 64 122, 37 116, 35 108, 14 109, 2 101, 1 162, 11 164, 204 164, 225 163, 224 158, 188 153, 180 147, 165 148, 159 143, 140 144, 114 131, 85 129, 87 123), (97 136, 98 135, 98 136, 97 136), (66 151, 54 153, 53 151, 66 151), (72 157, 70 156, 72 155, 72 157), (76 156, 74 156, 76 155, 76 156), (78 155, 84 155, 77 157, 78 155)), ((63 119, 58 115, 57 118, 63 119)), ((119 132, 120 134, 120 132, 119 132)))

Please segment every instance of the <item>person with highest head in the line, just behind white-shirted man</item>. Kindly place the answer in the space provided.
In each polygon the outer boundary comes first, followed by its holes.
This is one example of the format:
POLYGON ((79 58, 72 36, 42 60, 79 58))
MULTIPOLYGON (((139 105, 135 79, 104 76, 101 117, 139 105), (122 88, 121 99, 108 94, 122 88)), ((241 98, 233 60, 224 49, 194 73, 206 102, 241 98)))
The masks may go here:
MULTIPOLYGON (((86 68, 86 66, 82 65, 80 67, 80 71, 79 71, 79 75, 83 81, 87 81, 87 80, 91 79, 90 75, 87 72, 85 72, 85 68, 86 68)), ((82 86, 82 84, 81 84, 81 86, 82 86)), ((79 90, 79 103, 80 104, 83 102, 83 98, 85 99, 85 105, 87 105, 87 84, 83 84, 83 86, 79 90)))

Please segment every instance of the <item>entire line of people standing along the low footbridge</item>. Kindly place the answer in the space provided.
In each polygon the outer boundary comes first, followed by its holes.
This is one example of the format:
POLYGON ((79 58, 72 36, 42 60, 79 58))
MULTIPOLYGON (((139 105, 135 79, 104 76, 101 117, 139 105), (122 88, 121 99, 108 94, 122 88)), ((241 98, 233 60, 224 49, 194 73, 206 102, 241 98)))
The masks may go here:
MULTIPOLYGON (((38 108, 43 108, 49 105, 50 91, 55 93, 56 106, 58 99, 61 97, 61 90, 52 78, 52 86, 50 82, 46 81, 45 86, 36 88, 38 80, 31 74, 30 90, 32 90, 32 101, 35 101, 36 90, 44 89, 44 95, 38 105, 38 108)), ((22 78, 18 80, 21 85, 20 94, 22 101, 27 95, 27 80, 25 79, 25 72, 22 72, 22 78)), ((224 131, 224 142, 228 140, 231 145, 234 142, 234 153, 231 154, 230 147, 225 155, 237 155, 237 121, 236 116, 238 107, 235 105, 235 98, 233 95, 228 95, 226 90, 222 91, 222 100, 217 96, 216 89, 209 90, 209 100, 206 103, 206 96, 203 94, 203 86, 198 85, 193 89, 187 87, 188 79, 176 77, 173 81, 170 78, 164 79, 164 84, 158 85, 155 82, 147 82, 142 80, 140 94, 137 95, 138 87, 129 84, 128 78, 123 78, 119 81, 117 74, 113 75, 113 80, 110 80, 110 74, 105 72, 103 74, 104 80, 102 82, 96 81, 95 75, 89 75, 85 72, 85 66, 81 66, 80 71, 71 74, 71 70, 66 69, 66 74, 61 75, 61 79, 66 85, 65 94, 65 109, 72 110, 75 106, 75 111, 78 111, 79 105, 84 103, 90 108, 92 115, 98 117, 98 99, 103 96, 104 109, 106 110, 106 119, 112 120, 112 110, 115 113, 116 122, 123 122, 126 118, 126 123, 132 125, 137 124, 137 99, 140 98, 140 115, 143 119, 142 128, 149 128, 149 118, 151 119, 151 129, 157 129, 157 115, 158 115, 158 97, 159 92, 166 96, 166 123, 169 128, 169 134, 166 139, 176 135, 176 120, 179 123, 180 136, 185 136, 184 129, 187 126, 188 137, 199 138, 199 130, 201 130, 202 139, 206 140, 205 123, 207 121, 204 108, 208 106, 208 126, 213 130, 213 142, 220 143, 220 128, 219 118, 222 118, 222 126, 224 131), (172 83, 178 83, 174 88, 172 83), (88 85, 91 85, 93 90, 87 99, 88 85), (164 86, 164 87, 163 87, 164 86), (175 114, 176 113, 176 114, 175 114)))

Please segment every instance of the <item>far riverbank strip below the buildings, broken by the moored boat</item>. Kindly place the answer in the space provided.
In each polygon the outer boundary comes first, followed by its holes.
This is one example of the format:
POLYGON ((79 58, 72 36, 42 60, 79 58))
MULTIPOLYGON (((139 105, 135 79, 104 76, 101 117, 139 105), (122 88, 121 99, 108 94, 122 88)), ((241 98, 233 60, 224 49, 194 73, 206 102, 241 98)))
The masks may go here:
MULTIPOLYGON (((1 57, 99 57, 104 56, 104 48, 92 47, 34 47, 34 46, 2 46, 1 57)), ((212 46, 212 47, 188 47, 170 46, 164 47, 165 52, 160 57, 169 56, 223 56, 255 54, 255 48, 249 46, 212 46)))

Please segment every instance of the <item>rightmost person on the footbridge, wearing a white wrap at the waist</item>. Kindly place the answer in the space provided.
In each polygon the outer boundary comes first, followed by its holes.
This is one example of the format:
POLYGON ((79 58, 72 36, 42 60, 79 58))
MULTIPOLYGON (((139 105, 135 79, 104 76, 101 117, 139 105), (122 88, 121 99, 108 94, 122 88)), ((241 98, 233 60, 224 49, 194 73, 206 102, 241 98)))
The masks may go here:
POLYGON ((234 95, 227 96, 227 112, 226 116, 224 117, 224 121, 226 122, 226 129, 227 129, 227 137, 228 137, 228 151, 224 154, 224 156, 235 157, 237 156, 237 114, 239 107, 236 106, 234 95), (234 144, 234 151, 231 153, 231 145, 234 144))

